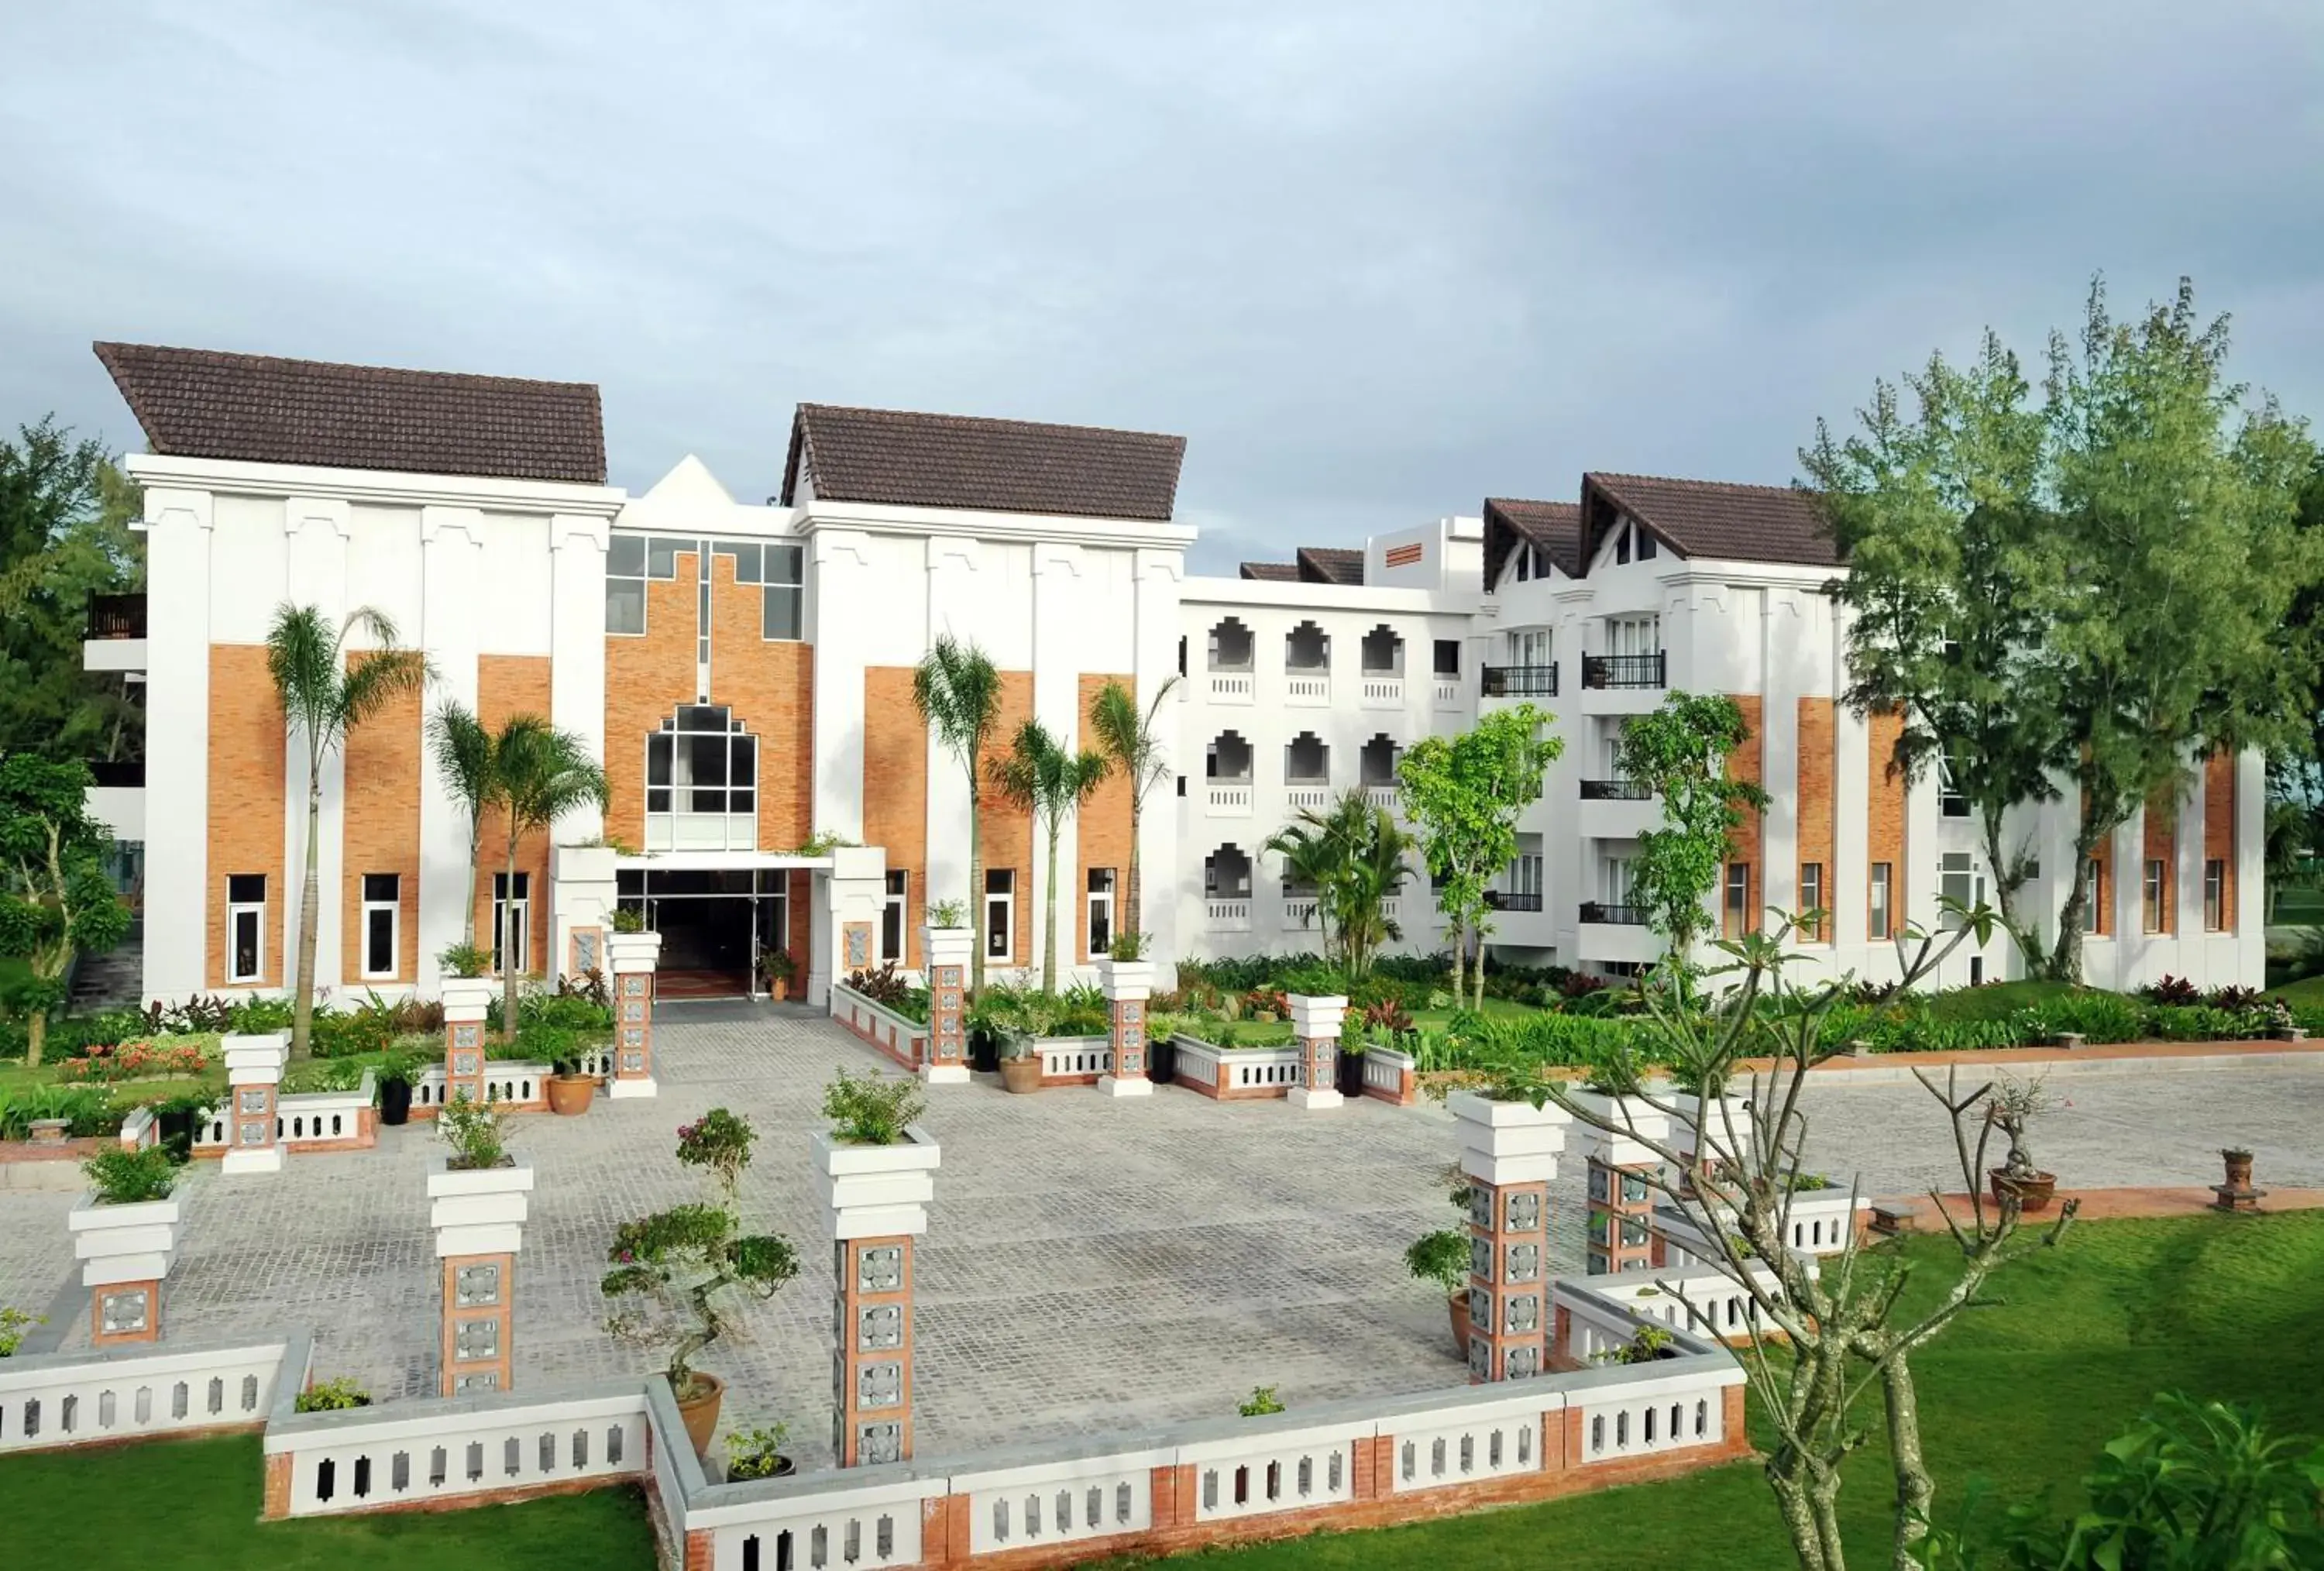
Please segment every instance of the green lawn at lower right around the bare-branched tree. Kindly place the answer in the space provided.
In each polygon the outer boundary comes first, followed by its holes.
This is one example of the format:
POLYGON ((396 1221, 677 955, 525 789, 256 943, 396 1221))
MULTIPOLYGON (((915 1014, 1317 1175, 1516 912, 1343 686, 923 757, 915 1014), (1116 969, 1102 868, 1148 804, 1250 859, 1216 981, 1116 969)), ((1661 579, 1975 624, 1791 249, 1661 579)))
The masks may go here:
MULTIPOLYGON (((1913 1239, 1936 1290, 1945 1246, 1913 1239)), ((2164 1390, 2259 1404, 2278 1432, 2324 1432, 2324 1213, 2089 1222, 2057 1253, 2010 1267, 1994 1304, 1966 1313, 1915 1366, 1938 1520, 1964 1485, 2001 1499, 2047 1492, 2064 1515, 2099 1448, 2164 1390)), ((1841 1494, 1857 1566, 1887 1564, 1887 1446, 1841 1494)), ((1764 1434, 1759 1436, 1766 1439, 1764 1434)), ((1785 1571, 1796 1564, 1757 1464, 1362 1534, 1320 1534, 1185 1557, 1204 1571, 1785 1571)), ((1122 1564, 1122 1562, 1109 1562, 1122 1564)))

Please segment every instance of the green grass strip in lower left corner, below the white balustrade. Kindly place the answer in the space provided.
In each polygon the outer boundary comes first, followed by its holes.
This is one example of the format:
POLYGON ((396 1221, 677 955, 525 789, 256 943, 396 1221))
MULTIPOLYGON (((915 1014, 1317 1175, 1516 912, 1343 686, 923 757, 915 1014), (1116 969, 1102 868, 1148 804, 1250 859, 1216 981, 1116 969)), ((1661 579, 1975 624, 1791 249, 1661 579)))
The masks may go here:
POLYGON ((256 1434, 0 1459, 0 1518, 23 1564, 79 1571, 651 1571, 637 1490, 474 1511, 258 1522, 256 1434), (121 1504, 137 1501, 137 1515, 121 1504), (142 1520, 142 1527, 139 1527, 142 1520))

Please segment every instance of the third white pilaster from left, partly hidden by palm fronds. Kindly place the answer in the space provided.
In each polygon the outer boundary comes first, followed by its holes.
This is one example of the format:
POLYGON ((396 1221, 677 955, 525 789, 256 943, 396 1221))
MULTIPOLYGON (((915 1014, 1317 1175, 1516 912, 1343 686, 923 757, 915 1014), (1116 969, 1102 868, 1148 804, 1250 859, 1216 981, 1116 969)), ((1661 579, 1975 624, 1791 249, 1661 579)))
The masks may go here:
MULTIPOLYGON (((428 706, 451 700, 476 706, 476 644, 486 614, 483 514, 474 507, 421 509, 421 646, 437 667, 428 706)), ((600 718, 600 727, 604 720, 600 718)), ((421 985, 444 981, 437 955, 460 941, 474 897, 467 858, 467 811, 444 779, 421 767, 421 985)), ((483 934, 479 934, 483 937, 483 934)))

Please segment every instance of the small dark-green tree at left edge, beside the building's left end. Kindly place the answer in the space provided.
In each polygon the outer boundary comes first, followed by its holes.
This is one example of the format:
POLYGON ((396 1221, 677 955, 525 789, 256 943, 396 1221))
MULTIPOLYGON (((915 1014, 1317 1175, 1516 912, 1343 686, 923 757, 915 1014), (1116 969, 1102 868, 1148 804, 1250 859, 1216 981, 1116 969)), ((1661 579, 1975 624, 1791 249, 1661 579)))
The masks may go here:
POLYGON ((0 1002, 26 1018, 28 1064, 40 1064, 72 957, 109 951, 130 930, 105 874, 112 834, 81 809, 86 795, 79 762, 0 758, 0 955, 23 962, 0 1002))

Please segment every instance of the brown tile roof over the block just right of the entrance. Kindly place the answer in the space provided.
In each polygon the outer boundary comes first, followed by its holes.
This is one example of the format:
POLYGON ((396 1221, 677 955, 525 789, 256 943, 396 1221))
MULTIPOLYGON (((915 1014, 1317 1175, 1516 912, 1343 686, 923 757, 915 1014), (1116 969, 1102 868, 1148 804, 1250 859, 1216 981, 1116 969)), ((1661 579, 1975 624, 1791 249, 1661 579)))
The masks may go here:
POLYGON ((825 502, 1169 518, 1183 460, 1185 437, 799 404, 783 502, 804 476, 825 502))

